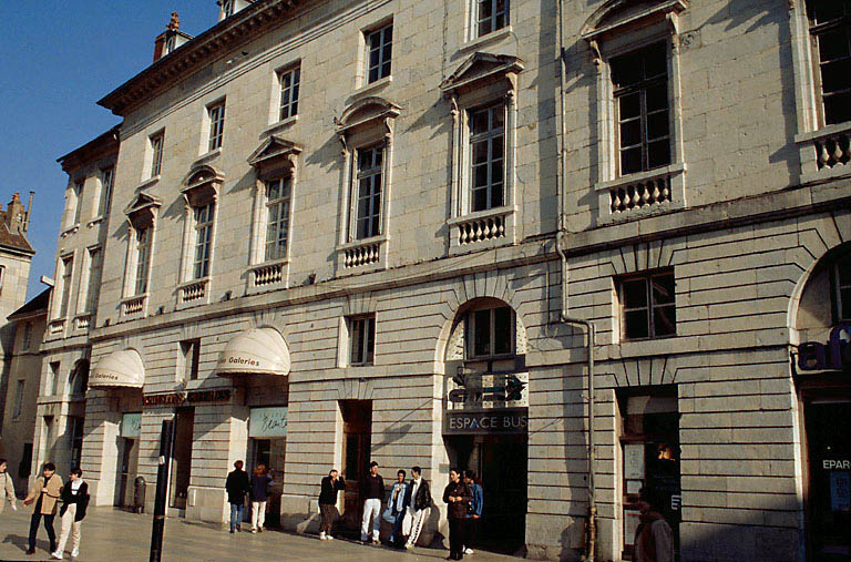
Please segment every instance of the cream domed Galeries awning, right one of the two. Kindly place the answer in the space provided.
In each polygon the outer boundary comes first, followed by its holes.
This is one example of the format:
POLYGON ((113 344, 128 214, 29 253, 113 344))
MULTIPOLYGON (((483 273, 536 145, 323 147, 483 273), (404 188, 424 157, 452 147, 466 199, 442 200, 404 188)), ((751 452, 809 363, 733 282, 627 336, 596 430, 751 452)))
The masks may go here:
POLYGON ((289 348, 275 328, 255 328, 234 336, 218 356, 216 374, 289 375, 289 348))

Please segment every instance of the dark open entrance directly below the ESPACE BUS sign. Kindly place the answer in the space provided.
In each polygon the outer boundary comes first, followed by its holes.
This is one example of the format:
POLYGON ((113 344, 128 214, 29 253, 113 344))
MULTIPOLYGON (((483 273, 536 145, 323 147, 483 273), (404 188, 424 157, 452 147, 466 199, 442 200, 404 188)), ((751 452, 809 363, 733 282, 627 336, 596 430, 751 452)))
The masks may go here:
POLYGON ((448 438, 458 467, 473 470, 482 484, 484 507, 473 549, 514 554, 526 538, 526 435, 448 438))

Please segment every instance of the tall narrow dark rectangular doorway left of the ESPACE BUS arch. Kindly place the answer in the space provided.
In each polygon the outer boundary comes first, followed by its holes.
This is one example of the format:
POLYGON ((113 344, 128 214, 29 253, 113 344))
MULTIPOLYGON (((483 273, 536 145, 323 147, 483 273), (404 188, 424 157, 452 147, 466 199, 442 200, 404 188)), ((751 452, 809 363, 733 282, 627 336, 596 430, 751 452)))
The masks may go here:
POLYGON ((359 538, 363 508, 360 481, 369 472, 372 446, 372 400, 340 400, 340 415, 342 477, 346 480, 341 524, 345 534, 359 538))

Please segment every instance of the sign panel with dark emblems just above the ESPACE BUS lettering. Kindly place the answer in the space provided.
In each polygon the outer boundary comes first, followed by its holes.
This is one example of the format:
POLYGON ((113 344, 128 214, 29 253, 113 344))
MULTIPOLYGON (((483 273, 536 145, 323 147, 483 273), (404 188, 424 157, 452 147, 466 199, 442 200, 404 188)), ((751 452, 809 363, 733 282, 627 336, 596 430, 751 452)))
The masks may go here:
POLYGON ((529 406, 527 372, 459 374, 450 384, 449 409, 529 406))

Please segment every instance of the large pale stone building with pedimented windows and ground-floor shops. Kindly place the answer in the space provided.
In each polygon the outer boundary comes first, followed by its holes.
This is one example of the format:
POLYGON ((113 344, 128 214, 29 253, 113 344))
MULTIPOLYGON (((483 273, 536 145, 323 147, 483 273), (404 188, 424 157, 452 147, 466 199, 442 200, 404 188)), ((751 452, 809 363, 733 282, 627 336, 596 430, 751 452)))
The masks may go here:
MULTIPOLYGON (((94 366, 93 501, 155 481, 172 420, 187 519, 225 519, 246 458, 299 531, 341 469, 355 529, 375 459, 433 482, 427 543, 460 466, 485 548, 628 559, 648 486, 684 560, 847 556, 837 6, 257 0, 195 38, 173 18, 99 102, 123 117, 111 204, 66 221, 57 260, 44 349, 94 366)), ((66 217, 104 165, 78 152, 66 217)))

